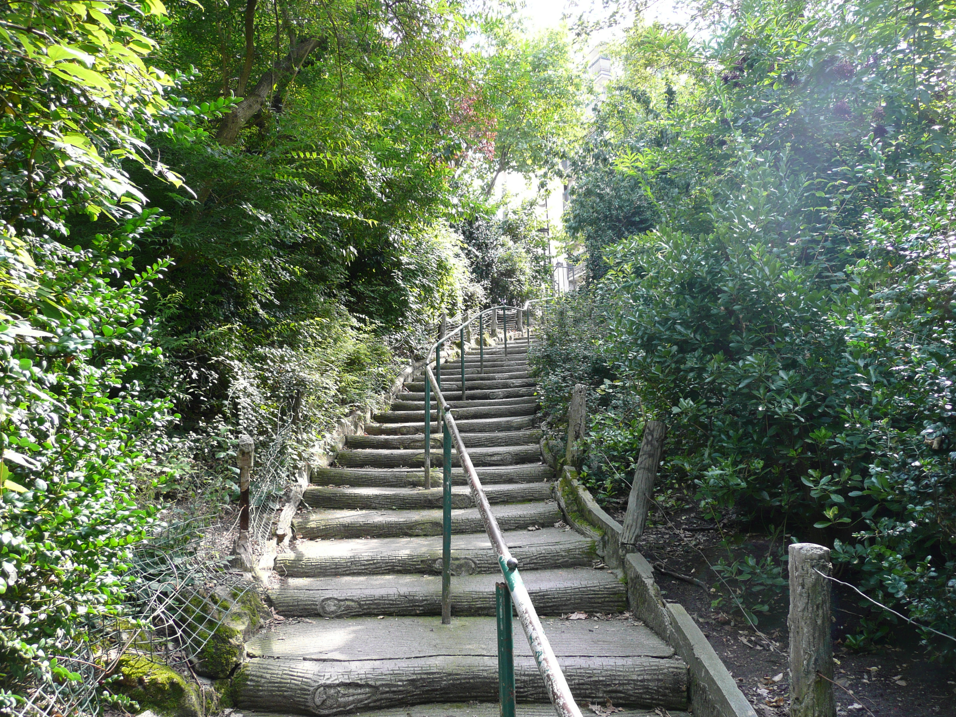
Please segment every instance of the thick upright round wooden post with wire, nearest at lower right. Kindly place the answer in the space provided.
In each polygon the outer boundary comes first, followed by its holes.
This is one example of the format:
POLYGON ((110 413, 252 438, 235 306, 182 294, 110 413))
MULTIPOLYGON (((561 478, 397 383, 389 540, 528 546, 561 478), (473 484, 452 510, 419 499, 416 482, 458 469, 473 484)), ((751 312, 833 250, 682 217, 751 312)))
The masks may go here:
POLYGON ((830 639, 830 549, 795 543, 790 555, 790 714, 835 717, 830 639), (821 575, 822 574, 822 575, 821 575))

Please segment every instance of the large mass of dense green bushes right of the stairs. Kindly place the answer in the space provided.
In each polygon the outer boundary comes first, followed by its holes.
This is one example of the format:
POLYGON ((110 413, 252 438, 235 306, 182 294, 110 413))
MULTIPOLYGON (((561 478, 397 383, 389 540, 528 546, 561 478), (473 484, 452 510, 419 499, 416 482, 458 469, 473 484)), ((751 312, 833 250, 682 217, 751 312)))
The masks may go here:
MULTIPOLYGON (((595 353, 667 422, 666 470, 712 517, 826 542, 869 595, 954 634, 956 8, 757 2, 722 22, 707 47, 635 28, 597 115, 656 225, 600 256, 595 353)), ((570 211, 592 251, 598 196, 570 211)), ((607 202, 604 224, 625 226, 607 202)), ((637 454, 628 421, 612 404, 593 419, 615 467, 637 454)))

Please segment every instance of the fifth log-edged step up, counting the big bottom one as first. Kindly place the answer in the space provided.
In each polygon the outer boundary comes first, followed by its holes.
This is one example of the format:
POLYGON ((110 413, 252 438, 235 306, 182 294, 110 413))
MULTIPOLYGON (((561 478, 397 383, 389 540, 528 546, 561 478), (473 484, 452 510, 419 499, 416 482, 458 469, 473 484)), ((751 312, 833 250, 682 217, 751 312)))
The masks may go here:
MULTIPOLYGON (((310 508, 351 508, 369 511, 404 511, 442 507, 442 471, 432 470, 432 488, 333 488, 309 486, 302 501, 310 508)), ((535 500, 552 500, 551 483, 508 483, 487 486, 485 495, 489 503, 528 503, 535 500)), ((467 486, 452 486, 451 507, 471 508, 474 499, 467 486)))

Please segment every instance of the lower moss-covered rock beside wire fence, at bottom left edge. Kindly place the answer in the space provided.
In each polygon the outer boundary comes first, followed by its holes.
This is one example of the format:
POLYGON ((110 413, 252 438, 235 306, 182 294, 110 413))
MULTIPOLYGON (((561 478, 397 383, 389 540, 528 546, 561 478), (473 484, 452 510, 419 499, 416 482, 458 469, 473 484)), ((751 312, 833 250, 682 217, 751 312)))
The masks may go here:
POLYGON ((126 654, 118 667, 120 691, 162 717, 203 717, 203 690, 164 664, 126 654))

